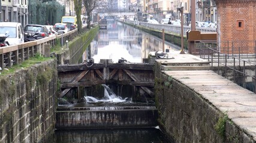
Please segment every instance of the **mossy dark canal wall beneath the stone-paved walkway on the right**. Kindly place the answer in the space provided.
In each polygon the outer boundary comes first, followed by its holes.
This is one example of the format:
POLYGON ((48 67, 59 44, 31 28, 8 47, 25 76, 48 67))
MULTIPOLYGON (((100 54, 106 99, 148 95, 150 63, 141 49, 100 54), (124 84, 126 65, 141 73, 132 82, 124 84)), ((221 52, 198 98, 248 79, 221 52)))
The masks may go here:
POLYGON ((158 64, 155 76, 158 122, 167 136, 176 142, 253 142, 200 94, 163 74, 158 64))

